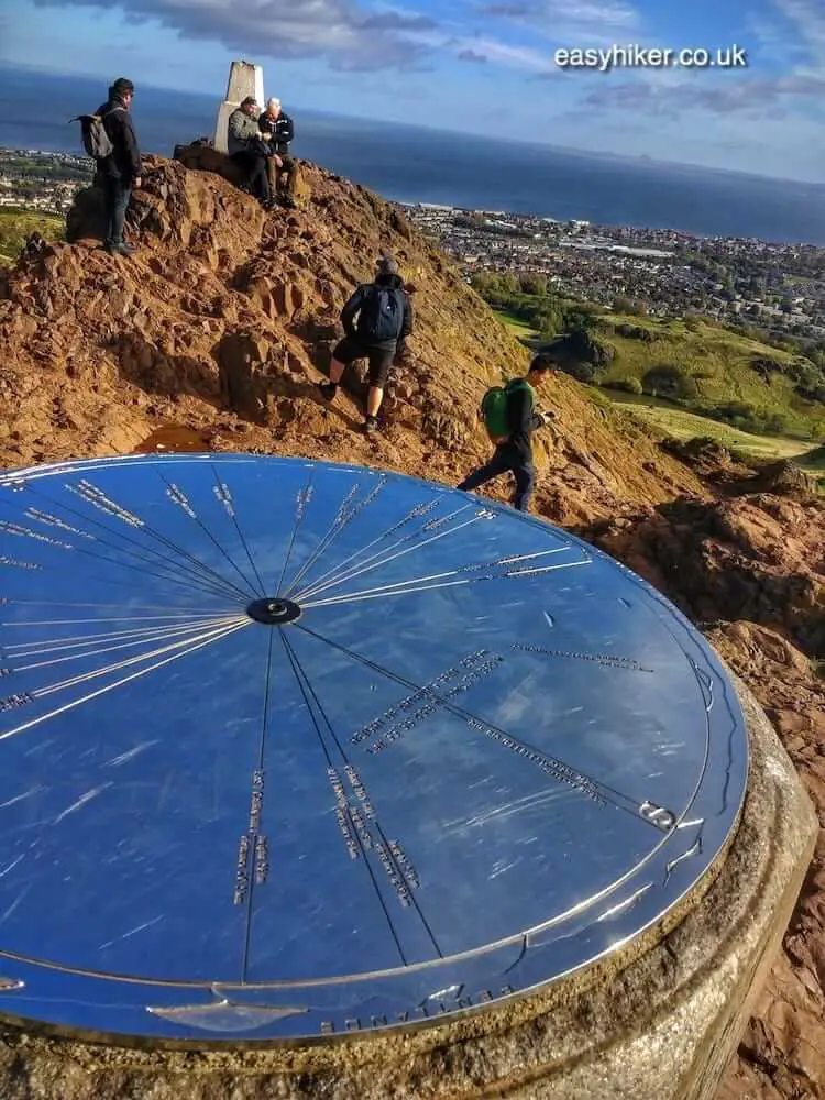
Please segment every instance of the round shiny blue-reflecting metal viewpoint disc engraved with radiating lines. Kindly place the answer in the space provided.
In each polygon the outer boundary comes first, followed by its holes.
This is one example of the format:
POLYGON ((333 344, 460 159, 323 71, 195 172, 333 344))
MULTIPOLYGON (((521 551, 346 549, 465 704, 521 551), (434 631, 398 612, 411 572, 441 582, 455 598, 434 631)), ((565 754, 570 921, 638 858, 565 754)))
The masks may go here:
POLYGON ((396 474, 0 477, 0 1014, 300 1040, 618 949, 707 871, 744 719, 653 588, 396 474))

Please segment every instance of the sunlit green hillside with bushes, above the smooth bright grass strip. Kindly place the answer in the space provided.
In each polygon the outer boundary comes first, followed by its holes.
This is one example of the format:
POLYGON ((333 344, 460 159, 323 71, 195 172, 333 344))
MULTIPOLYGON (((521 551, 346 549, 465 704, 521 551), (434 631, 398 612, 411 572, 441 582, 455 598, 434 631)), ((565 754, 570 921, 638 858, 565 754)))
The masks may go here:
POLYGON ((616 349, 616 359, 607 371, 605 382, 631 376, 641 380, 651 367, 672 363, 694 375, 698 399, 704 405, 747 402, 759 409, 784 414, 789 429, 803 436, 807 436, 817 421, 822 424, 825 417, 822 405, 804 402, 794 394, 791 380, 774 374, 768 383, 748 365, 757 355, 789 363, 794 358, 789 352, 701 320, 692 321, 691 328, 688 328, 682 320, 612 314, 605 321, 603 338, 616 349), (656 334, 654 341, 645 343, 616 336, 612 326, 623 322, 651 330, 656 334), (698 377, 697 374, 710 376, 698 377))

